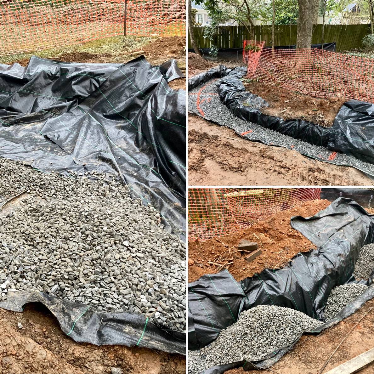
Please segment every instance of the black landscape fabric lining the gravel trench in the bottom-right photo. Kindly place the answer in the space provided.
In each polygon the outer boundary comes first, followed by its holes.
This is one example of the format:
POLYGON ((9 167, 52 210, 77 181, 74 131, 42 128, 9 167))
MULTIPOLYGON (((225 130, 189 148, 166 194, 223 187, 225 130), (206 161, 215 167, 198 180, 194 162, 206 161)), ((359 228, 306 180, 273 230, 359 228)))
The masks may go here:
MULTIPOLYGON (((374 216, 352 199, 339 197, 313 217, 291 218, 291 226, 300 231, 318 250, 298 253, 282 269, 265 269, 260 274, 235 281, 229 271, 204 275, 188 287, 189 349, 199 349, 214 341, 220 331, 237 321, 243 310, 257 305, 289 307, 323 320, 324 305, 331 289, 357 282, 353 270, 361 247, 374 241, 374 216)), ((362 281, 371 285, 373 277, 362 281)), ((317 333, 354 313, 374 297, 368 288, 338 315, 315 329, 317 333)), ((298 340, 298 339, 297 339, 298 340)), ((296 340, 296 341, 297 341, 296 340)), ((266 368, 284 355, 289 347, 271 353, 257 362, 233 362, 205 370, 205 374, 223 373, 233 367, 266 368)))

